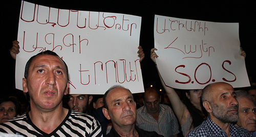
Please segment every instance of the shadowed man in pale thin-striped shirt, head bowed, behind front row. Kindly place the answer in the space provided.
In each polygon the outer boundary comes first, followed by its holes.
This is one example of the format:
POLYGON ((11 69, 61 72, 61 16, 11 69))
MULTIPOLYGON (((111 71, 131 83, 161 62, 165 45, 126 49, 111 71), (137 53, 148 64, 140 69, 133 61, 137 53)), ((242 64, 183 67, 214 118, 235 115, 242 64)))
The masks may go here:
POLYGON ((161 95, 155 88, 145 89, 144 106, 137 109, 136 125, 146 131, 156 131, 163 136, 177 136, 179 124, 172 108, 160 104, 161 95))

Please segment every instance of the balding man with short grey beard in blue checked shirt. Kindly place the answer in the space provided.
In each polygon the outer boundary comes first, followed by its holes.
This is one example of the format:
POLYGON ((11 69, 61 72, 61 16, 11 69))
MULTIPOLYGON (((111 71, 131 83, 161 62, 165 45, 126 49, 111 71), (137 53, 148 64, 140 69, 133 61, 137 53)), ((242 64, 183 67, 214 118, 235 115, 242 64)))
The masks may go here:
POLYGON ((208 118, 187 136, 252 136, 232 122, 238 121, 238 101, 233 87, 219 82, 207 85, 202 92, 203 106, 208 118))

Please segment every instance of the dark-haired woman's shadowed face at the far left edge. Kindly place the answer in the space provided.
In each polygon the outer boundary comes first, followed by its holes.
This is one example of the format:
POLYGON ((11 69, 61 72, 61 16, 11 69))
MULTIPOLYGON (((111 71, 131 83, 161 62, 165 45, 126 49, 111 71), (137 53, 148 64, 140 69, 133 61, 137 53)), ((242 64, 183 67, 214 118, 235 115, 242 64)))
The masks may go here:
POLYGON ((20 104, 14 97, 0 100, 0 123, 6 122, 19 114, 20 104))

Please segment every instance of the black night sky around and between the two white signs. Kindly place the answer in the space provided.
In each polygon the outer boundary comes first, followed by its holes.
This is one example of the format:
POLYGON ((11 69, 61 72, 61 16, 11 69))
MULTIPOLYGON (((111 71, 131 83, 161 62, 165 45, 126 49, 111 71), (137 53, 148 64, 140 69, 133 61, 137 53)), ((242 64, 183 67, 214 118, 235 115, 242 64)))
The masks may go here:
MULTIPOLYGON (((27 1, 59 9, 82 11, 99 11, 131 14, 142 17, 140 45, 143 47, 145 59, 141 63, 144 88, 154 85, 161 88, 159 77, 150 49, 154 47, 154 16, 195 19, 214 22, 239 22, 239 36, 243 49, 246 51, 246 68, 248 76, 255 81, 255 2, 254 1, 27 1)), ((21 1, 1 1, 1 89, 0 97, 18 95, 15 90, 15 61, 9 49, 12 41, 17 39, 18 18, 21 1)))

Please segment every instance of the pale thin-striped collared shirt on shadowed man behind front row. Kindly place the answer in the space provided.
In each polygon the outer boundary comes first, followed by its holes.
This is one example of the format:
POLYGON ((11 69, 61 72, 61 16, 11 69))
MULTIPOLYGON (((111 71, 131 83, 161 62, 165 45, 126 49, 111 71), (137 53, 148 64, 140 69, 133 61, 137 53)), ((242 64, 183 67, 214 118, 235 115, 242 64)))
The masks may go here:
POLYGON ((179 124, 172 108, 168 105, 159 104, 159 119, 156 121, 150 114, 146 113, 145 105, 137 109, 136 125, 146 131, 156 131, 163 136, 178 134, 179 124))

